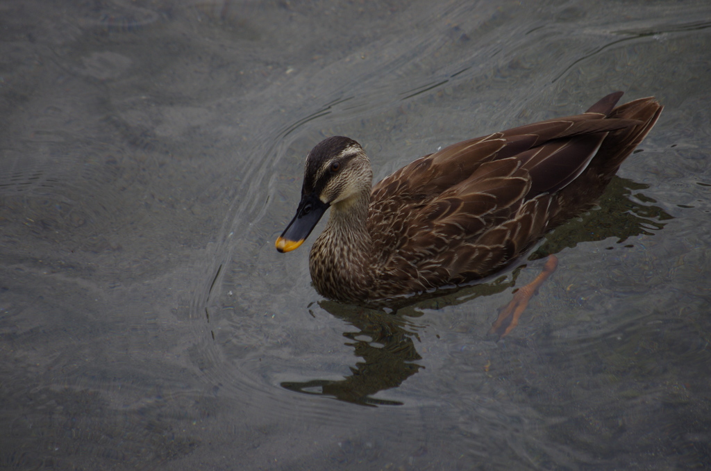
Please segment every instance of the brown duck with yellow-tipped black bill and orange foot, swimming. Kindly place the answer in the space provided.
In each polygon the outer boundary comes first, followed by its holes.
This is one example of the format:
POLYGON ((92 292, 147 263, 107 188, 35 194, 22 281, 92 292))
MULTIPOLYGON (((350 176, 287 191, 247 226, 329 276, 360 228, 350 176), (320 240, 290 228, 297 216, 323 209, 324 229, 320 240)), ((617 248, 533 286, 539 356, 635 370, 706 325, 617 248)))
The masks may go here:
MULTIPOLYGON (((382 305, 398 297, 481 280, 506 268, 545 233, 594 206, 658 119, 653 98, 614 107, 607 95, 582 115, 515 127, 452 144, 371 189, 358 142, 328 137, 306 157, 296 216, 277 250, 299 247, 326 209, 309 268, 325 297, 382 305)), ((503 309, 507 334, 544 272, 503 309), (517 299, 518 298, 518 299, 517 299)))

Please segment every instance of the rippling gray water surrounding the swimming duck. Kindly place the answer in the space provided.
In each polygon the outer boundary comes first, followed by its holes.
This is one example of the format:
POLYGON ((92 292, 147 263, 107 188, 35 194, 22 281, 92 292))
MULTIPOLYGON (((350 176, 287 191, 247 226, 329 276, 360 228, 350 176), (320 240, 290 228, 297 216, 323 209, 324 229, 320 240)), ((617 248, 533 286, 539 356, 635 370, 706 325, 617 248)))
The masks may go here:
POLYGON ((0 467, 711 467, 711 4, 520 3, 3 1, 0 467), (326 136, 380 179, 615 90, 658 124, 487 285, 365 311, 274 250, 326 136))

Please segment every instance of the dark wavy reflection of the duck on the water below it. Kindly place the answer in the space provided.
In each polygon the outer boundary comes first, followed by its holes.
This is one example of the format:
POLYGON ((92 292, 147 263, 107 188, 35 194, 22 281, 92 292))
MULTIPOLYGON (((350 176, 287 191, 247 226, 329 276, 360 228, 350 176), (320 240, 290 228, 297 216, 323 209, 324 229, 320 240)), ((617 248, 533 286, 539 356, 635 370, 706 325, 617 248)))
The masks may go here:
MULTIPOLYGON (((661 230, 665 226, 663 221, 672 216, 662 208, 648 204, 656 203, 653 199, 635 193, 646 188, 647 185, 615 176, 599 208, 548 234, 545 242, 530 254, 528 260, 545 258, 582 242, 617 238, 616 243, 621 244, 636 235, 651 235, 653 231, 661 230)), ((320 307, 358 329, 358 332, 350 332, 349 329, 343 337, 348 339, 346 345, 353 346, 355 356, 363 361, 351 367, 351 375, 340 381, 313 379, 284 382, 282 386, 291 391, 327 396, 362 406, 402 405, 398 401, 373 396, 380 391, 397 388, 423 368, 417 364, 422 356, 415 349, 415 341, 419 342, 419 332, 425 327, 414 319, 421 317, 424 309, 460 305, 476 297, 494 295, 514 287, 518 273, 525 266, 520 264, 507 275, 490 282, 436 292, 433 297, 424 300, 419 297, 409 305, 403 305, 400 301, 390 309, 368 309, 323 300, 319 302, 320 307)))

